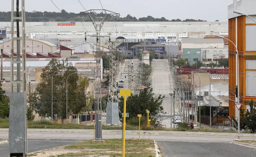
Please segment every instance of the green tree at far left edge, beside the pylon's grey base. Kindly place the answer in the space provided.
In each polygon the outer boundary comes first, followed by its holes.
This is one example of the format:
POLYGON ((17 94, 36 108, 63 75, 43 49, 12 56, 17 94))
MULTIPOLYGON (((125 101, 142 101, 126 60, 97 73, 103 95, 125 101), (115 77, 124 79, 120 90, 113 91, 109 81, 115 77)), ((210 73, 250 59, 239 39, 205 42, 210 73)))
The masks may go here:
POLYGON ((0 82, 0 118, 5 118, 9 115, 9 98, 5 96, 5 91, 2 89, 0 82))

